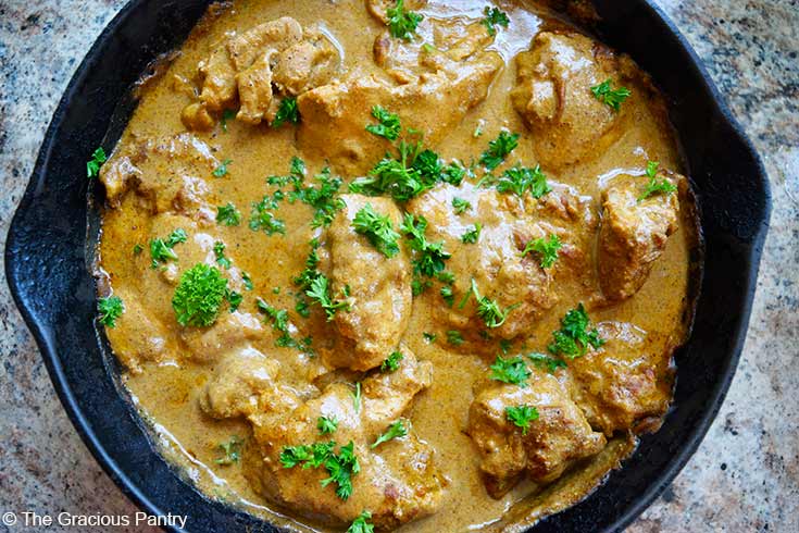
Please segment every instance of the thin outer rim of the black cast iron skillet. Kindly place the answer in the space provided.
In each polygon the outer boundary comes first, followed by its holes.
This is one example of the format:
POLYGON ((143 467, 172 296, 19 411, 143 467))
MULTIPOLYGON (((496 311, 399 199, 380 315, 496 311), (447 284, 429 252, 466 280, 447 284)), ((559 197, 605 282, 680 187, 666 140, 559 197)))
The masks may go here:
MULTIPOLYGON (((25 193, 22 196, 17 209, 15 210, 14 216, 12 218, 9 226, 5 250, 4 250, 4 263, 5 263, 5 278, 9 285, 11 295, 20 313, 23 317, 26 325, 28 326, 37 347, 39 348, 42 359, 45 361, 50 380, 53 383, 53 388, 58 394, 61 404, 75 426, 78 435, 87 446, 91 455, 95 457, 97 462, 102 467, 103 471, 114 481, 120 489, 140 509, 147 511, 153 516, 164 516, 165 513, 151 498, 143 494, 138 485, 136 485, 118 463, 111 458, 108 451, 103 448, 99 442, 97 434, 91 429, 87 418, 82 412, 75 395, 71 388, 67 377, 64 373, 64 369, 61 363, 61 358, 57 352, 52 339, 51 332, 48 325, 39 323, 32 312, 32 303, 27 301, 26 295, 21 288, 20 284, 22 278, 17 275, 20 269, 20 258, 15 255, 17 248, 16 243, 20 237, 18 234, 22 232, 22 215, 21 213, 27 209, 30 209, 35 204, 35 194, 37 189, 42 185, 48 174, 48 166, 51 160, 51 154, 54 148, 54 137, 59 125, 61 124, 66 110, 71 107, 78 86, 86 78, 88 69, 95 63, 100 55, 101 49, 112 38, 114 34, 120 32, 120 28, 125 26, 129 22, 129 17, 133 15, 135 10, 145 0, 130 0, 127 2, 114 17, 103 28, 97 39, 93 41, 89 50, 86 52, 80 64, 76 67, 70 83, 64 90, 64 94, 59 101, 59 104, 53 113, 47 132, 42 138, 39 154, 36 160, 36 164, 32 172, 28 185, 26 186, 25 193)), ((725 124, 729 126, 731 132, 738 137, 744 149, 751 157, 756 169, 757 178, 760 179, 760 184, 763 193, 763 209, 762 220, 758 221, 758 227, 754 231, 753 236, 750 238, 748 245, 749 251, 747 253, 748 269, 747 276, 744 286, 740 288, 741 295, 744 295, 742 307, 740 312, 737 314, 737 320, 734 321, 735 325, 733 330, 735 332, 735 338, 732 343, 729 350, 729 357, 726 358, 726 364, 724 364, 723 374, 719 376, 714 389, 710 393, 710 404, 702 411, 701 418, 697 421, 697 424, 692 430, 689 431, 689 438, 686 444, 674 455, 671 456, 667 462, 667 468, 663 469, 657 480, 651 483, 648 488, 641 493, 632 504, 625 509, 625 511, 612 523, 604 526, 603 531, 621 531, 631 524, 638 516, 648 508, 651 503, 672 483, 676 475, 687 464, 690 457, 696 453, 697 448, 703 441, 704 435, 710 429, 711 423, 715 419, 719 410, 721 409, 724 398, 726 397, 727 391, 735 375, 735 370, 738 365, 742 346, 747 336, 747 329, 749 319, 751 315, 751 309, 753 303, 753 297, 757 288, 757 278, 759 264, 762 256, 763 246, 765 244, 765 237, 769 228, 769 221, 771 218, 772 210, 772 197, 771 197, 771 184, 769 182, 767 174, 763 166, 762 160, 754 149, 752 142, 745 134, 742 127, 738 121, 733 116, 729 111, 724 98, 719 92, 717 88, 713 84, 707 70, 704 69, 701 60, 696 54, 692 47, 688 44, 683 34, 676 28, 674 23, 663 13, 663 11, 654 5, 651 0, 638 0, 640 5, 653 15, 652 18, 656 24, 660 24, 667 30, 669 34, 676 40, 678 48, 689 59, 686 67, 690 69, 696 77, 700 80, 700 89, 704 90, 709 100, 713 102, 715 109, 711 112, 715 112, 723 119, 725 124)), ((146 53, 146 52, 145 52, 146 53)), ((701 204, 699 206, 701 208, 701 204)), ((700 296, 701 298, 701 296, 700 296)), ((685 343, 687 346, 690 343, 690 338, 685 343)), ((151 449, 152 453, 158 454, 157 450, 151 449)), ((176 476, 178 478, 178 476, 176 476)), ((179 479, 179 478, 178 478, 179 479)), ((193 486, 189 488, 195 489, 193 486)), ((601 491, 602 485, 597 487, 596 491, 601 491)), ((234 508, 232 508, 235 510, 234 508)), ((240 511, 239 511, 240 512, 240 511)), ((183 531, 178 528, 168 528, 172 531, 183 531)), ((528 531, 534 531, 535 525, 530 526, 528 531)))

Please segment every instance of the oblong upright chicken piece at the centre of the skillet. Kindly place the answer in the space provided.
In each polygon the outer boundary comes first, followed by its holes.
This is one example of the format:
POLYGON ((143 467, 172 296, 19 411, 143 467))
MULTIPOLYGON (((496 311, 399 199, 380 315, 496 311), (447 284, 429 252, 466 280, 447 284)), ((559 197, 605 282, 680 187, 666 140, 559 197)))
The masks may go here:
POLYGON ((334 319, 344 346, 325 352, 324 359, 335 368, 364 371, 380 364, 408 327, 411 266, 404 247, 388 258, 352 226, 355 214, 370 204, 376 213, 388 216, 399 232, 401 215, 390 199, 341 198, 347 207, 338 212, 328 232, 330 281, 333 294, 349 286, 350 310, 337 312, 334 319))

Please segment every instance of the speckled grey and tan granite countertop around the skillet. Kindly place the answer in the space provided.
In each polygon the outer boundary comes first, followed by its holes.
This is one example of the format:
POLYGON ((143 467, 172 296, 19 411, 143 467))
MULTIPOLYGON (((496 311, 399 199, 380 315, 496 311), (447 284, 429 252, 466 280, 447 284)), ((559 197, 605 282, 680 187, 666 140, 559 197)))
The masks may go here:
MULTIPOLYGON (((754 142, 774 206, 727 399, 631 531, 799 531, 799 0, 656 1, 754 142)), ((0 246, 61 94, 124 3, 0 0, 0 246)), ((135 513, 67 420, 5 283, 0 359, 0 513, 135 513)))

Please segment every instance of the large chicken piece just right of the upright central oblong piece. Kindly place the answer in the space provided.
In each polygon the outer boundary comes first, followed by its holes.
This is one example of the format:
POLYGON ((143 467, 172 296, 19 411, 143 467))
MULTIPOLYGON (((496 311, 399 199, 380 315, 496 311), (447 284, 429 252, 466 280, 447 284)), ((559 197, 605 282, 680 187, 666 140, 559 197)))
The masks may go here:
MULTIPOLYGON (((588 235, 596 226, 589 200, 554 184, 541 199, 527 195, 524 200, 467 182, 459 187, 441 184, 408 202, 407 209, 427 221, 427 240, 442 241, 451 253, 446 270, 454 274, 454 305, 435 317, 445 322, 445 330, 459 330, 466 340, 491 350, 496 344, 484 343, 482 332, 505 339, 529 334, 558 299, 552 280, 561 271, 560 261, 544 269, 535 255, 522 257, 527 243, 558 235, 563 243, 559 253, 571 256, 574 270, 579 271, 588 264, 582 260, 582 250, 590 249, 588 235), (470 202, 471 209, 457 213, 454 198, 470 202), (464 244, 462 236, 477 223, 482 225, 477 241, 464 244), (504 320, 499 318, 490 325, 480 318, 474 295, 464 306, 459 305, 472 292, 472 280, 480 297, 498 303, 504 320)), ((440 296, 434 297, 440 303, 440 296)), ((474 351, 479 346, 467 343, 463 348, 474 351)))

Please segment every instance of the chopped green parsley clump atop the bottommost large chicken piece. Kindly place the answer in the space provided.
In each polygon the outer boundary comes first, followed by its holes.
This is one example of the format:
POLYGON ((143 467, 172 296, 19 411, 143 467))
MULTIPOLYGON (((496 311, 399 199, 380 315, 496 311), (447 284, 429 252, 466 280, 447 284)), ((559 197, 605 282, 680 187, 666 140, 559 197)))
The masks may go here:
POLYGON ((302 463, 303 469, 324 467, 330 474, 321 481, 322 486, 330 483, 337 485, 336 496, 347 500, 352 495, 352 476, 361 471, 354 453, 354 444, 350 441, 334 451, 336 443, 314 443, 312 445, 286 446, 280 451, 283 468, 295 468, 302 463))

